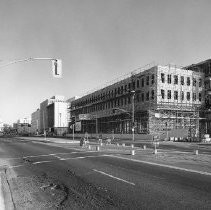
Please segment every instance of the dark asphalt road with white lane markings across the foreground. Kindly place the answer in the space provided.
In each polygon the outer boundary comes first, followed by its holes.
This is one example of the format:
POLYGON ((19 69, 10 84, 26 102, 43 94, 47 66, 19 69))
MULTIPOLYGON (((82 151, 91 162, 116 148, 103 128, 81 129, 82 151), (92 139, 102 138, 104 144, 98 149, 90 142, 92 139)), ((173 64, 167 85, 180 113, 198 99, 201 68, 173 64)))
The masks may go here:
POLYGON ((0 159, 16 209, 211 209, 208 175, 11 138, 0 159))

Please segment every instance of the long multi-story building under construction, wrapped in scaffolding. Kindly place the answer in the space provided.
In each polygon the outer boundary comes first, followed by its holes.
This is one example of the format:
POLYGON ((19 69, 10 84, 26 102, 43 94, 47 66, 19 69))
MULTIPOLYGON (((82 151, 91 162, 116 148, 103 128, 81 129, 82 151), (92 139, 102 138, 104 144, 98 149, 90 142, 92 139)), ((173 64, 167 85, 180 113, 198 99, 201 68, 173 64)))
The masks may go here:
POLYGON ((199 136, 203 105, 204 73, 158 65, 76 99, 71 115, 81 133, 199 136))

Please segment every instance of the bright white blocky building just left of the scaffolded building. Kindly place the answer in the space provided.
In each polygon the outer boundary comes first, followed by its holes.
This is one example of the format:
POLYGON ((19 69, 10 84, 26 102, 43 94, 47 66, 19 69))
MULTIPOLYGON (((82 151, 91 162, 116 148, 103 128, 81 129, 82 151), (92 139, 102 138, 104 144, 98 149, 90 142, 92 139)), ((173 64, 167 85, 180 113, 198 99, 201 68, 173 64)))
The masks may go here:
POLYGON ((53 96, 40 104, 40 130, 63 134, 67 132, 68 104, 64 96, 53 96))

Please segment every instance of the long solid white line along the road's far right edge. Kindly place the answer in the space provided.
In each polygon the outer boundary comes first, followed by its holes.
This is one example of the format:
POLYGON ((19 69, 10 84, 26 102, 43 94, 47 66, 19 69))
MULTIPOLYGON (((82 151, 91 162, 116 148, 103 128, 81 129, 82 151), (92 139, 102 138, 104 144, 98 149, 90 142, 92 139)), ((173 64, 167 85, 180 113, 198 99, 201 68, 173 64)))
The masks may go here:
POLYGON ((191 172, 191 173, 197 173, 197 174, 211 176, 211 173, 206 172, 206 171, 197 171, 197 170, 193 170, 193 169, 181 168, 181 167, 177 167, 177 166, 170 166, 170 165, 165 165, 165 164, 160 164, 160 163, 153 163, 153 162, 148 162, 148 161, 144 161, 144 160, 129 159, 129 158, 115 156, 115 155, 104 155, 104 156, 114 157, 114 158, 119 158, 119 159, 123 159, 123 160, 138 162, 138 163, 145 163, 145 164, 149 164, 149 165, 161 166, 161 167, 176 169, 176 170, 180 170, 180 171, 187 171, 187 172, 191 172))

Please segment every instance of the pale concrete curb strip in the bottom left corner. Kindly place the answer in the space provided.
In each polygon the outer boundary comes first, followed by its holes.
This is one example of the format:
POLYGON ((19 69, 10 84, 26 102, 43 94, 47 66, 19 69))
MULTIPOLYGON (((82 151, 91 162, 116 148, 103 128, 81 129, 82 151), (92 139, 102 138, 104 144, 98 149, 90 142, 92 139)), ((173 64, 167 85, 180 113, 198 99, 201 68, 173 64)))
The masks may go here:
POLYGON ((4 207, 6 210, 15 210, 15 205, 12 199, 12 194, 10 191, 10 186, 6 178, 5 172, 0 172, 0 181, 2 187, 4 207))

